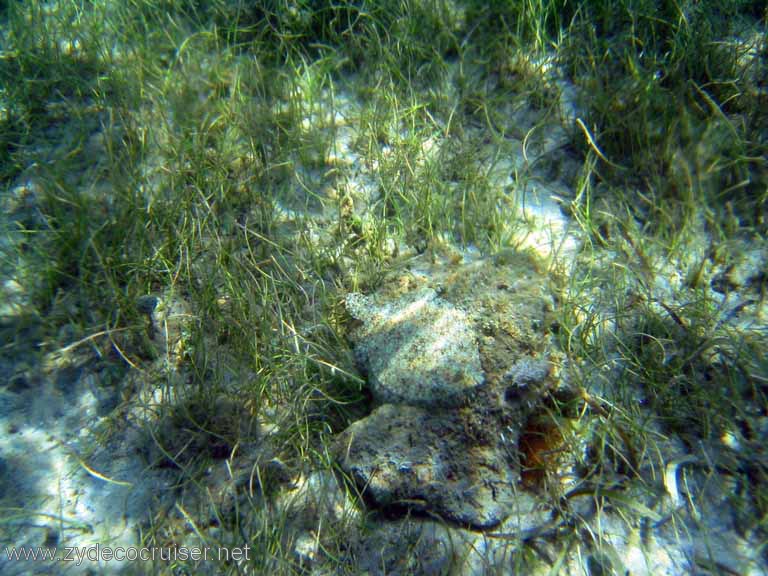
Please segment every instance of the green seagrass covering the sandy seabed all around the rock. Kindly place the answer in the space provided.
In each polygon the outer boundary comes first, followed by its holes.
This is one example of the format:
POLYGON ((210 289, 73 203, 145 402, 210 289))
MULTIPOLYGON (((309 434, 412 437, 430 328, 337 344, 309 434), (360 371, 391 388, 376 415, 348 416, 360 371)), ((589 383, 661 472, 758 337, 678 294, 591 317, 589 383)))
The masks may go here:
MULTIPOLYGON (((90 375, 96 413, 59 440, 118 491, 154 478, 134 544, 249 544, 217 574, 359 573, 376 512, 351 488, 299 503, 371 409, 346 295, 419 257, 525 253, 561 385, 520 440, 520 490, 555 512, 489 536, 509 551, 485 568, 623 573, 586 499, 644 542, 706 536, 725 502, 757 573, 767 31, 741 0, 0 3, 2 450, 51 422, 26 402, 46 380, 78 410, 61 374, 90 375), (538 196, 569 224, 537 252, 538 196), (140 453, 136 476, 94 464, 115 450, 140 453)), ((3 454, 11 546, 50 503, 3 454)), ((83 529, 55 514, 63 546, 83 529)), ((368 570, 427 572, 409 538, 368 570)), ((748 572, 705 540, 691 571, 748 572)))

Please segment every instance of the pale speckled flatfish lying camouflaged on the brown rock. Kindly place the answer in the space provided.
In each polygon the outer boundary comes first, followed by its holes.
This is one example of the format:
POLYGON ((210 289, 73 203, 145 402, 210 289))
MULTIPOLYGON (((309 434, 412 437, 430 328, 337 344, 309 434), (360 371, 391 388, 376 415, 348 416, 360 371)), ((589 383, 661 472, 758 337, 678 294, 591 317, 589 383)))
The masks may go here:
POLYGON ((377 305, 349 294, 363 323, 354 338, 374 399, 412 406, 458 406, 483 382, 477 336, 467 314, 430 289, 377 305))

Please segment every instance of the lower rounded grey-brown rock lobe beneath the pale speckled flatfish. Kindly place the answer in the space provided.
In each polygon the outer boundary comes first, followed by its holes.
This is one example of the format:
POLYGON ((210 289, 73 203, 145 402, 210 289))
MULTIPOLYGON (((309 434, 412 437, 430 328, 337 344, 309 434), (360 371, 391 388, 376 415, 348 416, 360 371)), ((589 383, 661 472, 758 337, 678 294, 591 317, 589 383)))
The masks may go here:
POLYGON ((503 446, 472 438, 458 413, 385 404, 347 428, 336 448, 375 507, 429 512, 473 528, 506 517, 519 479, 503 446))

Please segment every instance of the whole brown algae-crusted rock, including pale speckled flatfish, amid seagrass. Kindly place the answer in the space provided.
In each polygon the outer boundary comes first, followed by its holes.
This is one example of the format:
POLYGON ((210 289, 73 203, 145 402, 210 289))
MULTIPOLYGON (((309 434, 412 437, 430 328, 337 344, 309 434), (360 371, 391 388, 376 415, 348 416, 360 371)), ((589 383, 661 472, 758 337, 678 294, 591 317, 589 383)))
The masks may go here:
POLYGON ((475 529, 515 509, 518 437, 555 381, 546 284, 519 255, 414 266, 370 296, 348 295, 377 407, 335 452, 368 505, 475 529))

